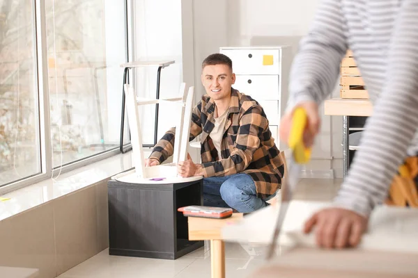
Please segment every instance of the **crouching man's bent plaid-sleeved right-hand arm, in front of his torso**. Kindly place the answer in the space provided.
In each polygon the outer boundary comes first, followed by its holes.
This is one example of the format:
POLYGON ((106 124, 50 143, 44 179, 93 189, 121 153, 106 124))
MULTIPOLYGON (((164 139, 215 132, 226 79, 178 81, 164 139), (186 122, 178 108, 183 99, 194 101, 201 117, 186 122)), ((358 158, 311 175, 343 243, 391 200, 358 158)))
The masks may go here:
POLYGON ((240 127, 230 156, 199 165, 195 175, 224 177, 247 169, 260 145, 261 134, 267 126, 268 120, 262 115, 261 106, 249 108, 240 119, 240 127))

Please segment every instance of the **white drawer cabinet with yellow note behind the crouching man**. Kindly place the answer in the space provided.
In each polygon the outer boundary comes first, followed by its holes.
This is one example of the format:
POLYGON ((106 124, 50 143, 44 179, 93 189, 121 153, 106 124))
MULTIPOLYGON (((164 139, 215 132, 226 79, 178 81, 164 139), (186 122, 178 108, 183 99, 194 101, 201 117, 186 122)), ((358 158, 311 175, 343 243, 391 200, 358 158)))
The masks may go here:
POLYGON ((219 52, 232 60, 236 76, 233 88, 263 106, 274 142, 279 149, 286 149, 279 140, 279 122, 288 98, 291 47, 220 47, 219 52))

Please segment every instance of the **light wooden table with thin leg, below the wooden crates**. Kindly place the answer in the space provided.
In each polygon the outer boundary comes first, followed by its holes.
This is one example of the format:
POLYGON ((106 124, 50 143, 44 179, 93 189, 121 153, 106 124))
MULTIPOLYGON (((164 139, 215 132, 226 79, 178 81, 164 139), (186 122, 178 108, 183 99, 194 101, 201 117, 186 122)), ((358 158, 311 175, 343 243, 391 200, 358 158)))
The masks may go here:
POLYGON ((373 106, 369 99, 327 99, 324 104, 325 115, 343 116, 343 177, 346 177, 349 164, 348 116, 369 117, 373 106))

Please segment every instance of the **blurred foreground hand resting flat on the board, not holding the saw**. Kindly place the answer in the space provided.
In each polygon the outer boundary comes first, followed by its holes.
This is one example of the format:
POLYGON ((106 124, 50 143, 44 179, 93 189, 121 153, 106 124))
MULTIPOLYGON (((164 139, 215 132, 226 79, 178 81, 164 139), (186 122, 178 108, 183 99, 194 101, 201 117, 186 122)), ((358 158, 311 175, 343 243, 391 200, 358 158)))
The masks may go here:
POLYGON ((366 231, 368 219, 344 208, 325 208, 315 213, 304 225, 304 232, 316 226, 319 247, 355 247, 366 231))

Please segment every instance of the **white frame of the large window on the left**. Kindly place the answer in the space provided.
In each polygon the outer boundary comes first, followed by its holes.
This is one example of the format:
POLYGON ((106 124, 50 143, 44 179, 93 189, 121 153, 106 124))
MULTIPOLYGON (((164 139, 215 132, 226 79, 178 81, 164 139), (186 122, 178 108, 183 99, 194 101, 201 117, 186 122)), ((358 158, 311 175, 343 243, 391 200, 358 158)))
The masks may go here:
MULTIPOLYGON (((125 0, 125 31, 126 31, 126 62, 132 60, 134 52, 132 51, 133 44, 133 26, 134 18, 132 16, 134 0, 125 0)), ((49 115, 49 85, 48 85, 48 58, 47 58, 47 25, 46 25, 46 11, 45 0, 32 0, 33 18, 34 22, 34 45, 36 47, 36 80, 38 92, 38 115, 39 115, 39 130, 40 130, 40 173, 32 177, 26 177, 18 181, 12 181, 4 185, 0 185, 0 195, 9 193, 13 190, 31 186, 34 183, 51 179, 61 174, 75 170, 84 165, 88 165, 97 161, 102 161, 105 158, 121 154, 119 145, 113 149, 109 149, 93 156, 73 161, 66 165, 60 165, 53 168, 52 165, 52 140, 51 140, 51 122, 49 115)), ((121 79, 121 94, 122 94, 122 79, 121 79)), ((115 104, 121 105, 121 104, 115 104)), ((126 117, 125 117, 126 119, 126 117)), ((125 138, 129 138, 129 125, 125 120, 127 128, 125 128, 125 138)), ((124 145, 129 147, 130 142, 124 145)))

